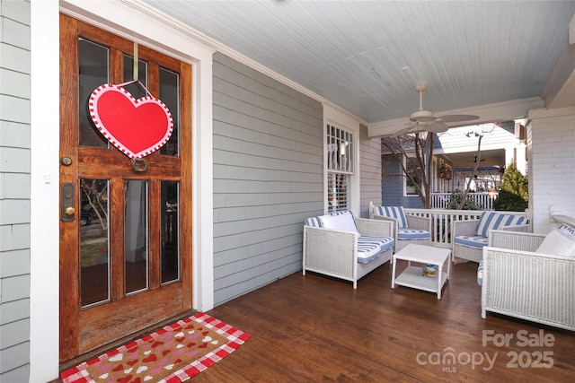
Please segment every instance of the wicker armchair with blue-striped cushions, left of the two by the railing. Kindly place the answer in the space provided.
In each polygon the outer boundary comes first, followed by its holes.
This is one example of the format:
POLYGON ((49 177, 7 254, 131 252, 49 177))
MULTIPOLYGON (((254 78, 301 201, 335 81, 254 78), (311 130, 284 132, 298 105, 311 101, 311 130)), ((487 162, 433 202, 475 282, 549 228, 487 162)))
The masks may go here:
POLYGON ((379 206, 369 203, 369 218, 394 223, 395 252, 407 245, 431 244, 431 217, 406 214, 403 206, 379 206))

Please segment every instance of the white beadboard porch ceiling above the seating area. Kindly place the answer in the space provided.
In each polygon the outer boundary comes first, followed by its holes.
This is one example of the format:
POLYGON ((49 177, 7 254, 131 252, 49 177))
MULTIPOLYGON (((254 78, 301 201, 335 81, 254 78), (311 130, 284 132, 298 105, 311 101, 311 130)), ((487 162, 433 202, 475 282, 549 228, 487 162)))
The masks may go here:
POLYGON ((145 3, 370 125, 407 122, 420 82, 439 115, 544 97, 575 13, 575 1, 145 3))

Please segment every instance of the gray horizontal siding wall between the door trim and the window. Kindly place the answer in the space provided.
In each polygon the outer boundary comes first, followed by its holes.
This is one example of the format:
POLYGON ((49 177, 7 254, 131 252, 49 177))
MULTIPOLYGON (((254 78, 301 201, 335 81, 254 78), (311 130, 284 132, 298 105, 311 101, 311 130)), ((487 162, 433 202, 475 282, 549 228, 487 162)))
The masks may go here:
POLYGON ((301 270, 323 211, 321 103, 214 56, 214 289, 221 304, 301 270))

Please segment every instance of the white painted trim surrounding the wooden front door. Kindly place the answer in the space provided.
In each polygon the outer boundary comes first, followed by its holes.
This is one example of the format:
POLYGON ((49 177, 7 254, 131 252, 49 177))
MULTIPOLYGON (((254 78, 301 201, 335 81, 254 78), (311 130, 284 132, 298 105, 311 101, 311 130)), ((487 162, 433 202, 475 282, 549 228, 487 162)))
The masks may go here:
MULTIPOLYGON (((59 13, 192 65, 192 301, 214 307, 212 55, 195 32, 146 4, 31 2, 30 379, 58 375, 59 13)), ((22 233, 25 238, 25 233, 22 233)))

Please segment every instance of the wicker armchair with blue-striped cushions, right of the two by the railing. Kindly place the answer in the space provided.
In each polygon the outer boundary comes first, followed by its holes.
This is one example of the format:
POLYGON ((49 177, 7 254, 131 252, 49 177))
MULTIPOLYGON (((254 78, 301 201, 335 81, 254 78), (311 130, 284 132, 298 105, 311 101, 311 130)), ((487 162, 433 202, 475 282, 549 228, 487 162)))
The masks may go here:
POLYGON ((451 231, 454 262, 461 259, 479 262, 492 230, 529 231, 529 225, 523 215, 498 212, 483 212, 477 220, 454 221, 451 231))

